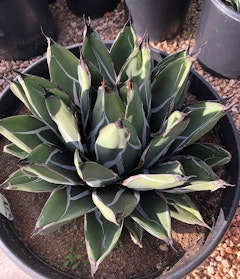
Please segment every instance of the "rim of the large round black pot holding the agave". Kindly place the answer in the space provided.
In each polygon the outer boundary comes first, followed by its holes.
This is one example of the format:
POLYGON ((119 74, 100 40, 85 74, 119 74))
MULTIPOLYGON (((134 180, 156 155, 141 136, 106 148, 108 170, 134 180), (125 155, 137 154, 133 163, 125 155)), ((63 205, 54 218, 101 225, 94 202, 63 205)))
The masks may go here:
MULTIPOLYGON (((216 0, 211 0, 216 1, 216 0)), ((106 44, 111 45, 112 41, 104 41, 106 44)), ((70 49, 71 51, 78 51, 78 49, 81 47, 82 44, 74 44, 67 49, 70 49)), ((159 50, 152 49, 153 50, 153 57, 155 59, 159 59, 160 55, 166 55, 159 50)), ((41 64, 46 64, 46 57, 42 57, 36 62, 34 62, 32 65, 27 67, 23 73, 32 73, 36 74, 37 68, 41 64)), ((201 77, 195 70, 191 70, 191 81, 192 83, 196 83, 196 88, 199 86, 202 86, 207 90, 207 93, 211 93, 212 96, 215 99, 220 99, 216 91, 211 87, 209 83, 206 82, 206 80, 201 77)), ((13 94, 9 95, 9 86, 0 94, 0 104, 7 97, 13 96, 16 98, 13 94), (9 96, 7 96, 9 95, 9 96)), ((205 91, 202 91, 203 94, 207 94, 205 91)), ((204 98, 205 99, 205 98, 204 98)), ((2 118, 2 115, 0 115, 0 118, 2 118)), ((220 211, 218 218, 216 220, 216 224, 213 228, 213 230, 209 233, 209 236, 207 237, 206 241, 204 242, 204 245, 201 247, 200 251, 196 253, 194 259, 191 258, 191 260, 188 259, 186 263, 183 265, 180 265, 177 267, 176 270, 170 271, 167 275, 161 275, 159 272, 153 273, 148 276, 142 277, 142 279, 147 278, 161 278, 161 279, 179 279, 183 276, 186 276, 188 273, 190 273, 192 270, 197 268, 217 247, 217 245, 222 240, 223 236, 225 235, 227 229, 229 228, 231 224, 231 220, 234 217, 234 214, 236 212, 236 209, 238 207, 238 202, 240 199, 240 138, 237 131, 237 128, 234 124, 234 121, 230 115, 230 113, 227 113, 227 115, 224 117, 225 122, 230 125, 232 129, 232 136, 235 141, 235 154, 232 154, 235 156, 235 160, 237 161, 237 179, 236 179, 236 186, 235 187, 227 187, 223 189, 223 192, 230 193, 230 198, 227 197, 227 199, 230 200, 228 203, 225 201, 225 205, 221 205, 223 202, 221 200, 220 203, 220 211), (227 209, 226 204, 230 204, 230 209, 227 209), (159 277, 158 277, 159 276, 159 277)), ((229 132, 227 133, 229 134, 229 132)), ((231 142, 231 144, 233 144, 231 142)), ((231 170, 231 168, 230 168, 231 170)), ((229 170, 229 171, 230 171, 229 170)), ((226 195, 228 196, 228 195, 226 195)), ((225 197, 225 196, 224 196, 225 197)), ((63 271, 57 270, 56 268, 50 266, 48 263, 43 261, 41 258, 39 258, 34 252, 32 252, 29 248, 25 247, 23 243, 20 241, 20 239, 17 236, 16 231, 13 228, 13 225, 10 221, 6 220, 5 217, 0 215, 0 222, 3 224, 0 226, 0 248, 9 256, 12 261, 16 265, 18 265, 22 270, 24 270, 27 274, 30 274, 33 278, 36 279, 45 279, 45 278, 65 278, 65 279, 77 279, 77 277, 72 276, 70 274, 67 274, 63 271), (11 230, 11 233, 3 233, 5 230, 9 228, 11 230), (17 240, 15 239, 17 237, 17 240), (23 251, 25 249, 25 251, 23 251), (37 262, 34 261, 33 258, 36 258, 37 262), (50 273, 52 274, 51 277, 49 277, 50 273)))

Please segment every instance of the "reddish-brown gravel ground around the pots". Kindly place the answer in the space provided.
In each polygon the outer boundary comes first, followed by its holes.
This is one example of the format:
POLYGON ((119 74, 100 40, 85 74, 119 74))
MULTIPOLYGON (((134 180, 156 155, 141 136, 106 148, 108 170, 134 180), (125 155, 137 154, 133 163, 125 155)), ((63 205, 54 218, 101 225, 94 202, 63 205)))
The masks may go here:
MULTIPOLYGON (((160 50, 171 53, 179 48, 186 48, 189 44, 194 44, 194 33, 198 22, 203 0, 192 0, 187 20, 182 34, 172 41, 164 41, 161 43, 152 43, 152 45, 160 50), (190 35, 193 38, 190 42, 190 35)), ((52 13, 59 29, 59 37, 57 42, 67 46, 82 41, 83 21, 71 14, 66 7, 65 1, 57 0, 51 6, 52 13)), ((102 39, 114 39, 117 32, 124 24, 124 13, 122 5, 112 13, 105 14, 102 18, 93 20, 92 26, 97 30, 102 39)), ((38 60, 39 57, 27 61, 1 61, 0 62, 0 92, 7 86, 7 82, 3 77, 14 78, 14 70, 22 71, 27 66, 38 60), (1 77, 2 76, 2 77, 1 77)), ((220 58, 221 59, 221 58, 220 58)), ((235 79, 224 79, 214 77, 205 72, 201 66, 195 62, 194 68, 202 75, 217 91, 221 97, 231 97, 231 114, 234 118, 236 126, 240 131, 240 81, 235 79)), ((225 278, 240 278, 240 207, 236 212, 235 218, 216 250, 210 257, 196 270, 189 274, 185 279, 225 279, 225 278)), ((3 255, 0 252, 0 259, 3 255)), ((16 278, 6 277, 6 271, 11 270, 10 264, 0 264, 1 278, 16 278), (4 276, 4 277, 2 277, 4 276)), ((16 273, 15 273, 16 275, 16 273)), ((29 277, 18 277, 29 278, 29 277)))

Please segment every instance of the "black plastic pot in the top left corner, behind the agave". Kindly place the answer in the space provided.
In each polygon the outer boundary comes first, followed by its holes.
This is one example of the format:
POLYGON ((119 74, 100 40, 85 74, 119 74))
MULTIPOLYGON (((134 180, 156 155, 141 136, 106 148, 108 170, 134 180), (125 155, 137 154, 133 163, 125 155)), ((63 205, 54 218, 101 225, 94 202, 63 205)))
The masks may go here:
POLYGON ((29 59, 46 50, 57 29, 47 0, 0 1, 0 59, 29 59))

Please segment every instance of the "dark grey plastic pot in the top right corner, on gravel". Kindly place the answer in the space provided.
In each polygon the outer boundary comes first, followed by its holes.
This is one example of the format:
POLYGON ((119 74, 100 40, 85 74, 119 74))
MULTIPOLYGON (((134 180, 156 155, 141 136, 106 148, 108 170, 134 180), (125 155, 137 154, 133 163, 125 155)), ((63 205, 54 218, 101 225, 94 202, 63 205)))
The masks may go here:
POLYGON ((205 0, 195 41, 198 60, 208 71, 240 78, 240 13, 221 0, 205 0))

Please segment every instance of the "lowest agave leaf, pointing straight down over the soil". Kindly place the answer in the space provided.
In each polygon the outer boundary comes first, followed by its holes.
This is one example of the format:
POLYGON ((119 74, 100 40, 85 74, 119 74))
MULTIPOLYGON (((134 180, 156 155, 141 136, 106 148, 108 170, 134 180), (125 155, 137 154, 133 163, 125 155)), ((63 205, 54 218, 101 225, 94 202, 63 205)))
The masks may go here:
POLYGON ((85 242, 92 276, 99 264, 116 246, 122 232, 123 222, 116 226, 107 221, 99 210, 85 215, 85 242))

